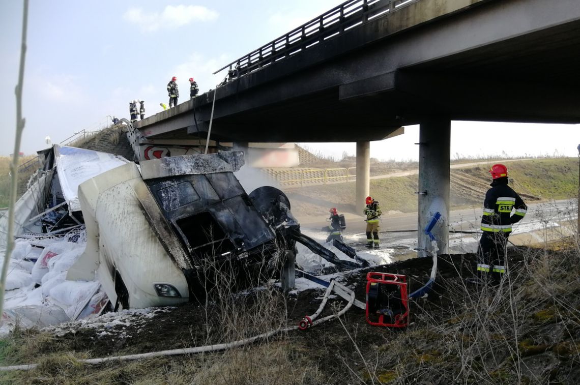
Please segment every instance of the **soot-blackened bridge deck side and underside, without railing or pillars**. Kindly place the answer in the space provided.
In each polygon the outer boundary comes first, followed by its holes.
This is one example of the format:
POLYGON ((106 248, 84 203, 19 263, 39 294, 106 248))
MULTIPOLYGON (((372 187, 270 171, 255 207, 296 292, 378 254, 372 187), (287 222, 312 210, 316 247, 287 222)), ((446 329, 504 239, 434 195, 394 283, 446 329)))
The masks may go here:
MULTIPOLYGON (((548 20, 530 16, 545 6, 482 2, 461 17, 383 38, 388 20, 353 28, 219 88, 212 139, 380 140, 434 116, 578 123, 580 12, 570 17, 563 6, 548 20)), ((137 126, 151 138, 205 137, 212 101, 205 93, 137 126)))

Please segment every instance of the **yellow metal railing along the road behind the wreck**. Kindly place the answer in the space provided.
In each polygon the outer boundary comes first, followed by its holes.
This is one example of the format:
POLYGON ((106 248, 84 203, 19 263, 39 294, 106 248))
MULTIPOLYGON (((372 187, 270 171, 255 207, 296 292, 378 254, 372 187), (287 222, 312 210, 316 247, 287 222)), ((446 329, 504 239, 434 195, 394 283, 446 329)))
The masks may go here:
POLYGON ((356 180, 356 168, 262 170, 271 179, 284 187, 304 187, 315 184, 343 183, 356 180))

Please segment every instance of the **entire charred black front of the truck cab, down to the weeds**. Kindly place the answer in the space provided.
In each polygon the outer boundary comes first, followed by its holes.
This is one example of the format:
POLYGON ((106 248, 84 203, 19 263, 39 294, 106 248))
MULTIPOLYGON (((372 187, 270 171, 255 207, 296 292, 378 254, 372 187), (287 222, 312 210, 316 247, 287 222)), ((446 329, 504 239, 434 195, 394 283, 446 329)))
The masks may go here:
POLYGON ((146 184, 191 261, 184 269, 190 298, 201 299, 219 277, 247 286, 276 274, 274 232, 232 172, 146 184))

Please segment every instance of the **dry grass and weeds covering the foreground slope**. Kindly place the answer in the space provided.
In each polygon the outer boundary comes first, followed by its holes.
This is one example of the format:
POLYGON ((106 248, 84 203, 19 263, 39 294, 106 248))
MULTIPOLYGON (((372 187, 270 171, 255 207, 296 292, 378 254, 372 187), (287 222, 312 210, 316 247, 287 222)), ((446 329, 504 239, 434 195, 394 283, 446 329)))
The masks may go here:
MULTIPOLYGON (((466 286, 461 277, 438 277, 429 295, 433 298, 413 301, 412 324, 402 330, 373 328, 364 324, 364 315, 349 312, 340 322, 230 351, 97 366, 77 361, 91 355, 90 346, 68 351, 66 344, 46 333, 20 331, 2 340, 3 364, 41 365, 29 372, 0 373, 0 382, 573 383, 580 375, 579 259, 577 238, 568 238, 547 249, 512 250, 509 276, 498 288, 466 286), (38 354, 48 344, 54 347, 52 353, 38 354)), ((222 290, 213 294, 224 295, 229 289, 222 290)), ((231 339, 273 328, 272 321, 288 322, 286 316, 273 313, 272 293, 263 291, 262 299, 251 306, 236 304, 236 296, 224 299, 217 304, 223 322, 211 326, 231 339)))

